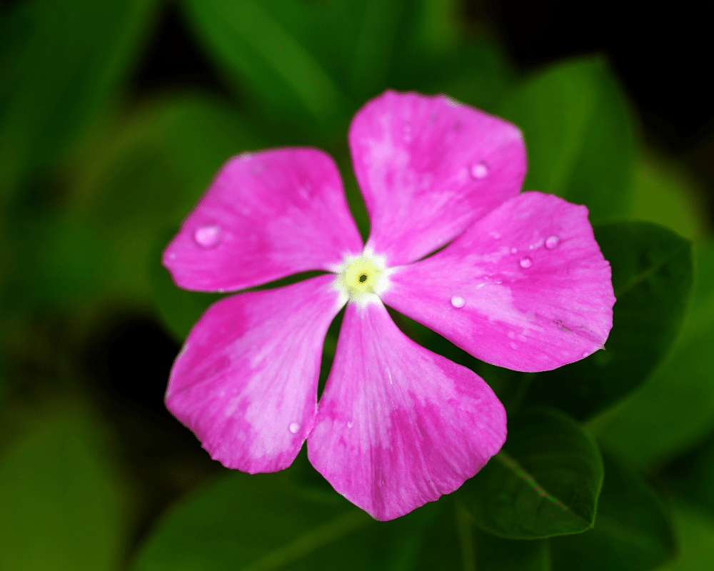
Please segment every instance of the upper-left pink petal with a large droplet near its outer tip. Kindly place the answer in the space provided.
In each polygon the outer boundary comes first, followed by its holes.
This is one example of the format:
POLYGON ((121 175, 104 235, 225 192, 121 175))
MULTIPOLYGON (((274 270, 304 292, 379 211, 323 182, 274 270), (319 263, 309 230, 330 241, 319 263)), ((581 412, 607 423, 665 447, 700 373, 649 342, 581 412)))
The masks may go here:
POLYGON ((235 291, 360 253, 331 156, 278 148, 231 158, 164 251, 181 288, 235 291))

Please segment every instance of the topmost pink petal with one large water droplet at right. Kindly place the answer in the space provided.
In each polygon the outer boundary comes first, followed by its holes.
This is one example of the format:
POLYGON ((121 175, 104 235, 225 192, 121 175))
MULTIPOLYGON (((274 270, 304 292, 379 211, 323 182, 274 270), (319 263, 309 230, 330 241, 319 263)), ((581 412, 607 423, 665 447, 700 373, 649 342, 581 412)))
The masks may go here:
POLYGON ((521 191, 526 147, 503 119, 445 96, 386 91, 352 121, 349 143, 387 266, 435 251, 521 191))

